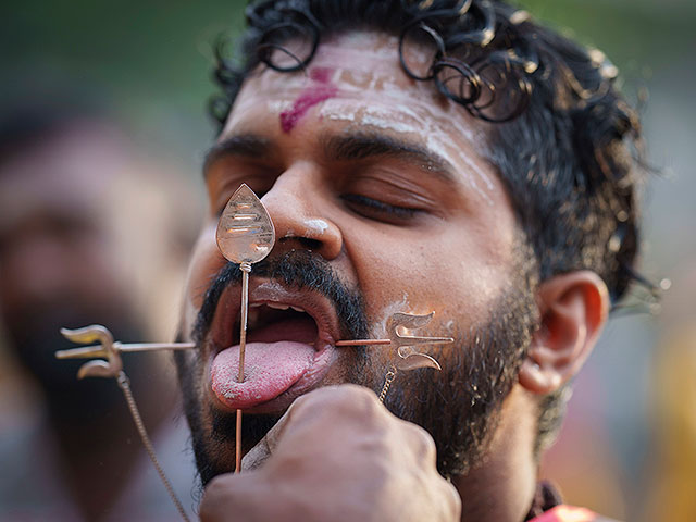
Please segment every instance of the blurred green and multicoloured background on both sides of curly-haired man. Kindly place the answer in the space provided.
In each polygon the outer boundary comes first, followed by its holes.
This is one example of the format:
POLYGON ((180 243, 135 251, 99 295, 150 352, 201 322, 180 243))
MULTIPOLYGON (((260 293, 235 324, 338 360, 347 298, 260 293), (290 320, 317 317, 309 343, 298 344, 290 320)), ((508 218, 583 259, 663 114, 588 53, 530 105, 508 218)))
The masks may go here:
MULTIPOLYGON (((20 513, 10 520, 46 515, 36 498, 62 499, 65 520, 98 520, 103 506, 119 513, 112 520, 173 514, 113 383, 71 386, 75 365, 41 380, 46 353, 26 357, 21 347, 44 343, 52 351, 54 324, 85 321, 119 325, 124 340, 173 337, 202 215, 201 159, 214 138, 211 42, 239 32, 245 3, 25 0, 0 8, 0 294, 12 310, 0 337, 0 513, 20 513), (79 306, 55 311, 66 296, 79 306), (64 411, 66 400, 82 414, 64 411), (113 411, 91 422, 110 400, 113 411), (116 442, 125 442, 123 451, 104 451, 116 442), (42 476, 48 462, 58 489, 42 476), (132 476, 150 486, 129 488, 132 476)), ((613 518, 696 520, 696 2, 521 5, 604 50, 633 103, 648 92, 648 158, 661 170, 643 195, 642 272, 667 291, 659 307, 612 319, 576 380, 543 474, 570 504, 613 518)), ((194 472, 182 453, 183 421, 172 421, 172 369, 158 359, 130 364, 156 447, 164 448, 188 509, 194 472)))

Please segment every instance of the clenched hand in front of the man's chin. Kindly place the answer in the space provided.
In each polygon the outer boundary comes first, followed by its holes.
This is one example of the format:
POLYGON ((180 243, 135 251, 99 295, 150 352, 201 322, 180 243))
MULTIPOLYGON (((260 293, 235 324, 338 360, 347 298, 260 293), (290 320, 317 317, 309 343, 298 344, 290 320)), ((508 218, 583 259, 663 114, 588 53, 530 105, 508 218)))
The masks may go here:
POLYGON ((461 500, 435 467, 428 433, 366 388, 311 391, 200 506, 203 522, 458 521, 461 500))

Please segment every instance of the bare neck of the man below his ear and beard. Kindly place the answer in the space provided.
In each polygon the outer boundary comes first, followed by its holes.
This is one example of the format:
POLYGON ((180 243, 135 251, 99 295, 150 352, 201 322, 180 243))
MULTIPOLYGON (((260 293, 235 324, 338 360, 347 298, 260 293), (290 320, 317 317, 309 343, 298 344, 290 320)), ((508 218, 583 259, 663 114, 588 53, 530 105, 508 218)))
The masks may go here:
POLYGON ((515 386, 502 406, 500 424, 483 462, 452 478, 462 499, 462 522, 524 520, 536 489, 535 438, 535 402, 515 386))

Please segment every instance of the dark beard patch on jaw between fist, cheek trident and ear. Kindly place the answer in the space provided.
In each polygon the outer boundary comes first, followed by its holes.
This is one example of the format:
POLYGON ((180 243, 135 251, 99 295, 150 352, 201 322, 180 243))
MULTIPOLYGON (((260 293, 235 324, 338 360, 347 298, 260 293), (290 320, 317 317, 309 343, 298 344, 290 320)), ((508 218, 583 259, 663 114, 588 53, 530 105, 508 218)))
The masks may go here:
POLYGON ((502 401, 517 382, 538 320, 529 286, 497 299, 490 318, 453 335, 431 355, 443 371, 400 373, 385 406, 423 426, 437 447, 437 469, 451 478, 475 469, 488 451, 502 401))

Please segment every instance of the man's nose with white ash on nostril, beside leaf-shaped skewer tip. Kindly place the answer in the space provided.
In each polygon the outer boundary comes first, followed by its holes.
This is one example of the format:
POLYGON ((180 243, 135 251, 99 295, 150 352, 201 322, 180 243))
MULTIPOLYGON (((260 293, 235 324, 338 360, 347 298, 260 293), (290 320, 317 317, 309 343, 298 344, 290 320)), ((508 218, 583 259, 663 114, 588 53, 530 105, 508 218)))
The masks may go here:
POLYGON ((300 248, 319 253, 327 261, 343 249, 340 228, 321 209, 330 197, 318 179, 290 169, 275 181, 262 198, 275 227, 274 251, 300 248))

